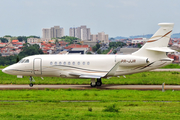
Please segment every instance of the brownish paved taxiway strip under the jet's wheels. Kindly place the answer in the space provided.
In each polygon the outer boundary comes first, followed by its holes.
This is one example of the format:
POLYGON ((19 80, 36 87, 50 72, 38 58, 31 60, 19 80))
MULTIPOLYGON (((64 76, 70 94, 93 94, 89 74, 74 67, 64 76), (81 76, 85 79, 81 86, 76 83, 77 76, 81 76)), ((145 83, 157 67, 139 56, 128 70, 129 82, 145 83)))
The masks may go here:
MULTIPOLYGON (((0 90, 9 89, 131 89, 131 90, 162 90, 162 85, 102 85, 90 87, 90 85, 0 85, 0 90)), ((180 90, 180 85, 165 85, 165 90, 180 90)))

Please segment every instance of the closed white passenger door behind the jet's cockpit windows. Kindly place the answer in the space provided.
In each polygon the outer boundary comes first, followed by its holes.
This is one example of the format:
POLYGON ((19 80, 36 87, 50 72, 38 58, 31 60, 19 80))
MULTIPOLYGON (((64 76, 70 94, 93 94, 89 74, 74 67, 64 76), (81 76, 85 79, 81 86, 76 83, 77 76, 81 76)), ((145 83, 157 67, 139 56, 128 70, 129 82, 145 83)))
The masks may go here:
POLYGON ((35 75, 41 75, 42 74, 42 59, 41 58, 35 58, 34 59, 34 74, 35 75))

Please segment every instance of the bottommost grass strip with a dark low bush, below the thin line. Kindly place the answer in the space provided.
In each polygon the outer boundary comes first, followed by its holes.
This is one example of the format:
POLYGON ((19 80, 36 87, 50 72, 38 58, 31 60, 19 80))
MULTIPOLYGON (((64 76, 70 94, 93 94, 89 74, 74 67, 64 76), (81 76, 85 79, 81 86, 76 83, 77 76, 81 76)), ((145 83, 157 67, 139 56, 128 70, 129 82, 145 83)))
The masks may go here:
POLYGON ((0 102, 0 119, 3 120, 175 120, 180 117, 179 103, 154 102, 103 102, 103 103, 54 103, 0 102), (115 106, 113 111, 111 106, 115 106), (91 108, 91 109, 90 109, 91 108), (109 108, 109 109, 107 109, 109 108))

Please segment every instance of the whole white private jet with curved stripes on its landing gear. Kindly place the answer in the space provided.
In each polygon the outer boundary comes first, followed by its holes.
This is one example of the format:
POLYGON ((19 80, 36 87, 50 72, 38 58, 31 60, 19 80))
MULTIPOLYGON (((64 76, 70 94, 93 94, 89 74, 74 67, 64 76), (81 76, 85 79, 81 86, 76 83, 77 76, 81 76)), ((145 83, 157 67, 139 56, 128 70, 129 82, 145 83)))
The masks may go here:
POLYGON ((172 63, 166 52, 173 23, 159 23, 159 30, 138 51, 130 55, 33 55, 4 68, 7 74, 33 76, 89 78, 91 86, 101 86, 101 78, 149 71, 172 63))

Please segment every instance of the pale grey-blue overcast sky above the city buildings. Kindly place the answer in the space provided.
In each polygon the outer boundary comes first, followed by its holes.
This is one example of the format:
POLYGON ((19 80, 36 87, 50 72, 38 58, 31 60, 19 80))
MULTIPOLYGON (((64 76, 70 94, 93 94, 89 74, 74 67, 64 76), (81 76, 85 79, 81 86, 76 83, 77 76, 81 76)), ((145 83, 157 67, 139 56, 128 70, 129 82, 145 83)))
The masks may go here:
POLYGON ((0 37, 42 36, 42 28, 87 25, 109 37, 153 34, 160 22, 180 32, 180 0, 0 0, 0 37))

